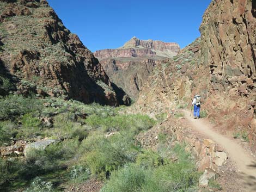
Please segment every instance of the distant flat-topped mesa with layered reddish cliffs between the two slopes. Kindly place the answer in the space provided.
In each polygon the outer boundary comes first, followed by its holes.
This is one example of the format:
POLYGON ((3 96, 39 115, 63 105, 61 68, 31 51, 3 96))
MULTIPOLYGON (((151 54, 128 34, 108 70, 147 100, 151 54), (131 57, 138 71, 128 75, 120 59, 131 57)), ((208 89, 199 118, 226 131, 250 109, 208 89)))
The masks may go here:
POLYGON ((111 80, 136 100, 154 66, 179 51, 180 47, 175 43, 133 37, 120 48, 103 49, 94 55, 111 80))

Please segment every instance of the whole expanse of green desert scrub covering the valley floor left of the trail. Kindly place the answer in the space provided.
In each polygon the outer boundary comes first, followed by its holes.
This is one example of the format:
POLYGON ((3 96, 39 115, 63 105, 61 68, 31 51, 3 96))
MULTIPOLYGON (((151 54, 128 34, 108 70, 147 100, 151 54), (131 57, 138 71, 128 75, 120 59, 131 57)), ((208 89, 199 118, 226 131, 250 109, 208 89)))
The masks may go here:
POLYGON ((32 93, 1 97, 1 146, 42 139, 58 142, 45 150, 31 148, 26 158, 0 157, 0 191, 63 191, 90 178, 105 183, 102 191, 193 189, 198 174, 184 146, 163 154, 144 150, 137 142, 137 134, 155 124, 147 115, 126 114, 124 107, 39 98, 32 93), (168 158, 170 152, 178 162, 168 158))

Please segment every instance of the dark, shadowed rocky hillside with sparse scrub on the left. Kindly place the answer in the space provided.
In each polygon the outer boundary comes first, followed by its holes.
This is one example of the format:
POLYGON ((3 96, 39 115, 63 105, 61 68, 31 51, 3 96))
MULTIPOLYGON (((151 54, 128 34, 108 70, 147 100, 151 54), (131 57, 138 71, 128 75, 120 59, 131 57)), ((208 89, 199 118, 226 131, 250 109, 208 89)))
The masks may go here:
POLYGON ((84 103, 123 102, 118 101, 123 96, 115 92, 121 91, 113 89, 99 61, 64 27, 46 1, 1 0, 0 13, 1 74, 9 74, 21 92, 84 103), (34 90, 28 84, 34 84, 34 90))

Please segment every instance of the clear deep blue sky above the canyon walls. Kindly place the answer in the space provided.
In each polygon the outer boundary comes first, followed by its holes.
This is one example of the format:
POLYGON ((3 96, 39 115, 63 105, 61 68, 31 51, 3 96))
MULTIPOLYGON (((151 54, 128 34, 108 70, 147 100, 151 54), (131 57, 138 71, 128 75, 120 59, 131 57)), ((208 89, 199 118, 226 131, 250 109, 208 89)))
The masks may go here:
POLYGON ((48 0, 66 28, 91 51, 117 48, 136 36, 177 42, 182 48, 198 36, 211 0, 48 0))

